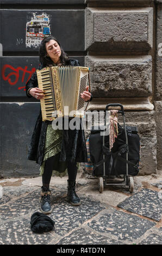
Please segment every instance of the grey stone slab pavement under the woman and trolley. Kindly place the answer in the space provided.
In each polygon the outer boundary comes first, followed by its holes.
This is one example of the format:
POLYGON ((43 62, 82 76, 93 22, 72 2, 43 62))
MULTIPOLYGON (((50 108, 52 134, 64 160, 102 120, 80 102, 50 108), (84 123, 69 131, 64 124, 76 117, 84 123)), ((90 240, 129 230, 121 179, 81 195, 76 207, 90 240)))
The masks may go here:
POLYGON ((134 192, 110 186, 102 193, 98 179, 78 174, 80 206, 66 202, 67 177, 52 177, 49 217, 54 230, 35 234, 30 217, 40 211, 41 177, 0 180, 1 245, 149 245, 161 239, 159 175, 134 177, 134 192), (3 197, 2 197, 3 193, 3 197))

